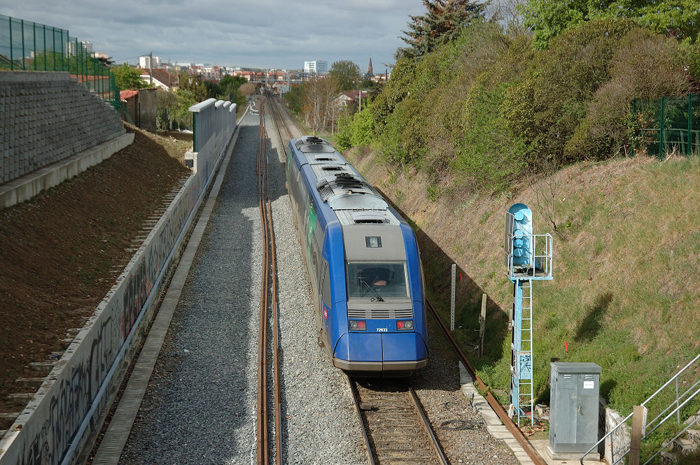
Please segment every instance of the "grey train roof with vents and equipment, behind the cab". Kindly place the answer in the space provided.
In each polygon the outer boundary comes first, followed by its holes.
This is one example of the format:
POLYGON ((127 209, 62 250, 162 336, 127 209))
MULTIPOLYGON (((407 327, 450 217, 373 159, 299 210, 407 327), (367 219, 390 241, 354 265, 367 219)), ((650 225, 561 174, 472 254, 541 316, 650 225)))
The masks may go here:
POLYGON ((314 196, 328 205, 341 224, 400 224, 400 218, 367 180, 327 141, 306 136, 293 141, 300 166, 309 164, 307 176, 314 196))

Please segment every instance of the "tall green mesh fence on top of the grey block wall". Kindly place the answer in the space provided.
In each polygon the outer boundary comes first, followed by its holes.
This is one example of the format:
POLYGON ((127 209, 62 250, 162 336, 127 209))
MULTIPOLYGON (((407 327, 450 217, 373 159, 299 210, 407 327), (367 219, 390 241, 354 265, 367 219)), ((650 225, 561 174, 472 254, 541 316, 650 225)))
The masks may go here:
POLYGON ((66 29, 0 15, 0 71, 67 71, 120 110, 111 70, 66 29))

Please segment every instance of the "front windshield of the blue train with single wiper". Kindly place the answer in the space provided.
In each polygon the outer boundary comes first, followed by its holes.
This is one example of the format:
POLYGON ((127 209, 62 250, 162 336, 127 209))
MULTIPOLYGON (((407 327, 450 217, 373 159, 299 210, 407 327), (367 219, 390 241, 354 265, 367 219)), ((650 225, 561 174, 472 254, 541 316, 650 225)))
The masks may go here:
POLYGON ((408 297, 405 263, 348 262, 346 272, 349 299, 408 297))

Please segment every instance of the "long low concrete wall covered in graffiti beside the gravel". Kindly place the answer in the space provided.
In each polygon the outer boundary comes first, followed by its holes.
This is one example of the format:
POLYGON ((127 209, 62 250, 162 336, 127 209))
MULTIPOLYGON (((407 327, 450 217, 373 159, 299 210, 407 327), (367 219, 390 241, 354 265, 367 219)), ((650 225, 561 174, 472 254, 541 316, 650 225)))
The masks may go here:
POLYGON ((92 446, 235 127, 195 154, 197 172, 0 441, 0 465, 75 464, 92 446))

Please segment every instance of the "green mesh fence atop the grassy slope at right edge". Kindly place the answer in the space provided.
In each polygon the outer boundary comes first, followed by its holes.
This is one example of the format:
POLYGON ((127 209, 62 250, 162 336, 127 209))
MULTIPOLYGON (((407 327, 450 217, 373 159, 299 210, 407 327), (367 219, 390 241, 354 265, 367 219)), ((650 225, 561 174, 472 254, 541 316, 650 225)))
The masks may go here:
POLYGON ((700 153, 700 96, 635 99, 633 114, 638 124, 634 150, 663 157, 673 152, 700 153))

